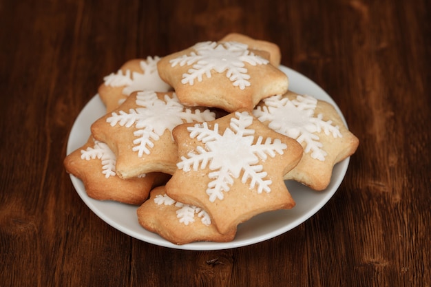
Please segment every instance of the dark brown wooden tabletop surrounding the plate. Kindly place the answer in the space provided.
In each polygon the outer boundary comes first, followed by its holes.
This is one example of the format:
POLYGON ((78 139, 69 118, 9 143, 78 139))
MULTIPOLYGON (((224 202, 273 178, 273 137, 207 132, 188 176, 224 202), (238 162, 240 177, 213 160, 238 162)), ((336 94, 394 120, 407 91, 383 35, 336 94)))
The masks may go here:
POLYGON ((0 286, 431 286, 431 2, 0 0, 0 286), (240 32, 333 97, 360 142, 315 216, 181 251, 99 219, 63 169, 103 76, 240 32))

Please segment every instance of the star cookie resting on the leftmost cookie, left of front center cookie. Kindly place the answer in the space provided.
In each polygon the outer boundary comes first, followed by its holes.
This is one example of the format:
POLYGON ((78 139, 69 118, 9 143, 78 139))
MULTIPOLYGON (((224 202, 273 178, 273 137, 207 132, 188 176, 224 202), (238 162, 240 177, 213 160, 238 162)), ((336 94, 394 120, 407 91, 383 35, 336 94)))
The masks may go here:
POLYGON ((174 173, 177 147, 171 131, 182 123, 213 120, 202 107, 185 107, 174 92, 134 92, 114 111, 92 124, 92 135, 116 155, 120 178, 142 173, 174 173))

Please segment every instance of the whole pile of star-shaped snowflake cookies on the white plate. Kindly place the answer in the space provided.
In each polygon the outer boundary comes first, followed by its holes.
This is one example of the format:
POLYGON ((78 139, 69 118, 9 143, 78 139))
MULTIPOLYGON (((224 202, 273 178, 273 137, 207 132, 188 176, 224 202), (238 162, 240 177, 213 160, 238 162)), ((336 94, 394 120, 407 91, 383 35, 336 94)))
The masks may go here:
POLYGON ((125 63, 67 172, 174 244, 229 242, 251 217, 292 209, 284 180, 326 189, 359 141, 335 107, 288 90, 280 59, 274 43, 229 34, 125 63))

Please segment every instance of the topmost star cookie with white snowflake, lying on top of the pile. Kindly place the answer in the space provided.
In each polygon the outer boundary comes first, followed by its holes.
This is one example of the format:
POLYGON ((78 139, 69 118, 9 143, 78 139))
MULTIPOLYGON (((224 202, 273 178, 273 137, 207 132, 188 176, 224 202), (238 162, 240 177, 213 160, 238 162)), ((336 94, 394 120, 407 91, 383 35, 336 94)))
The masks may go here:
POLYGON ((286 74, 260 54, 268 55, 244 43, 207 41, 160 59, 158 72, 184 105, 251 111, 288 88, 286 74))

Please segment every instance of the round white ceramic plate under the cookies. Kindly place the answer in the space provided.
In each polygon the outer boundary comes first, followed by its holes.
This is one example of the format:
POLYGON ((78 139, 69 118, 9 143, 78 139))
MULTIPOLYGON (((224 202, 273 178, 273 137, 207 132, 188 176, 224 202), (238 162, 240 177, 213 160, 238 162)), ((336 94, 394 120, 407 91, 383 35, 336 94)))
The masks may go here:
MULTIPOLYGON (((326 100, 335 106, 335 109, 341 115, 341 111, 335 104, 332 98, 324 92, 316 83, 306 78, 302 74, 295 72, 287 67, 280 67, 289 77, 289 89, 298 94, 308 94, 315 98, 326 100)), ((81 113, 76 118, 76 121, 70 131, 70 137, 67 142, 67 154, 72 153, 75 149, 83 146, 90 136, 90 126, 95 120, 105 115, 105 106, 100 98, 96 95, 83 108, 81 113)), ((344 120, 345 122, 345 120, 344 120)), ((146 231, 138 224, 136 216, 136 206, 121 204, 118 202, 107 202, 93 200, 87 196, 83 182, 70 176, 78 195, 87 204, 87 206, 98 217, 101 217, 107 224, 113 226, 119 231, 126 233, 138 240, 156 244, 158 246, 166 246, 170 248, 187 249, 187 250, 220 250, 227 248, 236 248, 269 240, 277 235, 290 231, 299 224, 308 220, 322 206, 330 200, 337 191, 339 184, 344 178, 348 168, 349 158, 335 165, 333 170, 333 178, 325 191, 313 191, 304 187, 297 182, 287 182, 286 186, 291 192, 296 206, 291 210, 280 210, 262 213, 253 217, 251 220, 244 222, 238 226, 238 233, 235 240, 227 243, 217 242, 193 242, 191 244, 176 245, 171 244, 167 240, 155 233, 146 231)))

